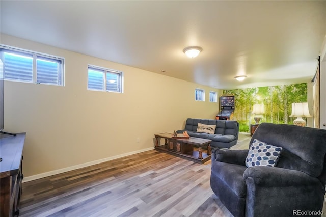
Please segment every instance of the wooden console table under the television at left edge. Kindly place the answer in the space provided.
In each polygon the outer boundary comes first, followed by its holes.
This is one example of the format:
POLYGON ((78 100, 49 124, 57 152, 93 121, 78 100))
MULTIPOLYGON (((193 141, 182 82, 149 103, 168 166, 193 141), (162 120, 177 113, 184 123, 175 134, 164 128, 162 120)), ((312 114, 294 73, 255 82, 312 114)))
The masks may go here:
POLYGON ((0 134, 0 216, 19 215, 21 195, 22 150, 26 133, 0 134))

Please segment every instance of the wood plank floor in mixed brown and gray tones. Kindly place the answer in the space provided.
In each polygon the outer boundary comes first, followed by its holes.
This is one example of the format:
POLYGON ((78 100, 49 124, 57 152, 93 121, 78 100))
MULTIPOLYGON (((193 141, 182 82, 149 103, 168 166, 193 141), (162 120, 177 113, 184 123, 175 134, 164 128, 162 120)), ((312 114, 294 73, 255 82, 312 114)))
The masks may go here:
MULTIPOLYGON (((240 138, 233 149, 248 147, 240 138)), ((25 182, 19 216, 232 216, 210 167, 151 150, 25 182)))

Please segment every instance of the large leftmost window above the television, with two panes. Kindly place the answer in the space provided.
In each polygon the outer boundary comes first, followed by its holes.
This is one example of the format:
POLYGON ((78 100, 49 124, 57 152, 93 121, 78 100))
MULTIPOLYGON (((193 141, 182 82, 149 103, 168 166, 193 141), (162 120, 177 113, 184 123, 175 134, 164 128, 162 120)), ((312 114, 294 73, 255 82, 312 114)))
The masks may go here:
POLYGON ((0 46, 4 79, 63 86, 64 59, 34 51, 0 46))

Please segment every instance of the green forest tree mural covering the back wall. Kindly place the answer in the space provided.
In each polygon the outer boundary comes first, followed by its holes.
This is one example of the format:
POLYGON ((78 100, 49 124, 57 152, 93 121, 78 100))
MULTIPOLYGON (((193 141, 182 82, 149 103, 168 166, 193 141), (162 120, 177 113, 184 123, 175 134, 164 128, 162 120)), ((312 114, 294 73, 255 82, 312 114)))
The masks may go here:
POLYGON ((307 102, 307 83, 223 90, 223 94, 234 95, 234 120, 240 123, 240 132, 249 132, 257 116, 251 114, 254 104, 264 107, 260 123, 293 124, 292 103, 307 102))

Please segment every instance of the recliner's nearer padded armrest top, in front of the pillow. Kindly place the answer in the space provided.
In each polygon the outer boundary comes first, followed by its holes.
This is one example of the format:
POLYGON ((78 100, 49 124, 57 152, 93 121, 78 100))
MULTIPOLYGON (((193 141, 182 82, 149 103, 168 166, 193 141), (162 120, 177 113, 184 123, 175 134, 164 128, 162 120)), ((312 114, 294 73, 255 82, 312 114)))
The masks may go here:
POLYGON ((289 187, 319 185, 316 177, 297 171, 279 167, 254 166, 247 168, 243 173, 243 180, 253 179, 255 185, 265 187, 289 187))

